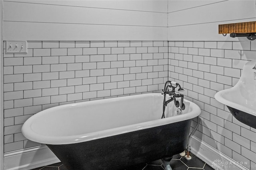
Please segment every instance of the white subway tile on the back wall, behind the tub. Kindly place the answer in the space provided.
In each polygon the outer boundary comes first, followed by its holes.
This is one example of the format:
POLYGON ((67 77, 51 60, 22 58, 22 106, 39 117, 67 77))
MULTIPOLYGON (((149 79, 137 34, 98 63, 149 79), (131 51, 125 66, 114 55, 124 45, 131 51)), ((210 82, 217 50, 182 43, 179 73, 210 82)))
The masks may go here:
POLYGON ((28 54, 4 54, 4 152, 41 145, 22 124, 49 107, 160 92, 168 41, 28 41, 28 54))

